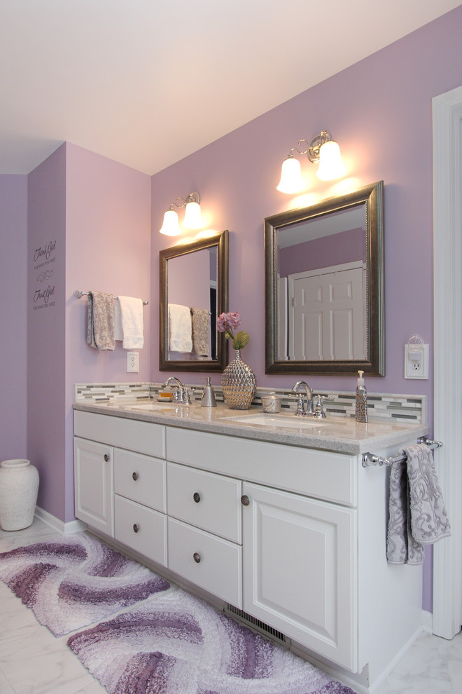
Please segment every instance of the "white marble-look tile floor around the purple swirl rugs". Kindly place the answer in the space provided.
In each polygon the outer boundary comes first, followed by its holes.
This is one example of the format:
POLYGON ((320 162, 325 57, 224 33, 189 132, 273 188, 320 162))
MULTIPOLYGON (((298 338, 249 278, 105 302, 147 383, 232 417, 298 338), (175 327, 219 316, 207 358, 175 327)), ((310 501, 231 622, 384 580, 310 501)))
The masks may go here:
MULTIPOLYGON (((0 530, 0 552, 57 534, 37 519, 22 531, 0 530)), ((1 581, 0 606, 0 694, 106 692, 67 648, 68 636, 52 636, 1 581)), ((461 682, 462 632, 452 641, 423 633, 375 694, 458 694, 461 682)))

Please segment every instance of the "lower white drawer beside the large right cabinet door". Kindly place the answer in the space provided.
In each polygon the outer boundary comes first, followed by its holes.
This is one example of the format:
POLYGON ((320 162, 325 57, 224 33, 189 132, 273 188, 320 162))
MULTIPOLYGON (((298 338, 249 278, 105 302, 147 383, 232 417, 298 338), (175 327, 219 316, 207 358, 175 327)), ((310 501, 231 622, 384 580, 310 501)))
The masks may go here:
POLYGON ((242 608, 242 547, 168 519, 169 569, 242 608))

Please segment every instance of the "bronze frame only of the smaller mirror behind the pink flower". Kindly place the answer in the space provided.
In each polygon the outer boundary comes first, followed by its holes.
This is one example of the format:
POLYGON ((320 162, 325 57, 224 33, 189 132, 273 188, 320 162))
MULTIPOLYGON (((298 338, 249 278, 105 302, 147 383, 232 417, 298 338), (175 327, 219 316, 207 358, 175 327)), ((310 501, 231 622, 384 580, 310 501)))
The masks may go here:
POLYGON ((188 253, 207 250, 217 247, 217 306, 216 315, 228 311, 228 230, 200 238, 190 243, 172 246, 159 251, 160 281, 159 281, 159 369, 160 371, 186 371, 186 372, 214 372, 223 371, 228 364, 228 340, 223 332, 217 331, 216 359, 204 359, 197 361, 169 360, 168 359, 168 271, 167 261, 188 253))

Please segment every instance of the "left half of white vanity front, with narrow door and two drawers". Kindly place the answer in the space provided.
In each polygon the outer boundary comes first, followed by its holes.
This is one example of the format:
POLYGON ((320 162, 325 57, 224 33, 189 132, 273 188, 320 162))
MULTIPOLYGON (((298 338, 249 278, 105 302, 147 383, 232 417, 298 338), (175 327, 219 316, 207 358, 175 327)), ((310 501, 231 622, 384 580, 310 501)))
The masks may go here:
POLYGON ((76 517, 167 566, 165 428, 76 411, 74 435, 76 517))

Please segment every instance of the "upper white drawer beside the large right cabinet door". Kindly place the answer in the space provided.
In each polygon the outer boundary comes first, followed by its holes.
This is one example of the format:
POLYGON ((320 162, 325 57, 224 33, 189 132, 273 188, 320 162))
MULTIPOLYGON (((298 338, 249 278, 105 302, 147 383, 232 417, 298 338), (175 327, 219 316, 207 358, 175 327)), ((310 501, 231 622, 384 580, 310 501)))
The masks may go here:
POLYGON ((241 481, 167 463, 169 516, 241 543, 241 481))

